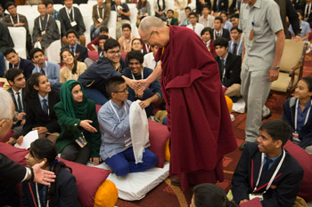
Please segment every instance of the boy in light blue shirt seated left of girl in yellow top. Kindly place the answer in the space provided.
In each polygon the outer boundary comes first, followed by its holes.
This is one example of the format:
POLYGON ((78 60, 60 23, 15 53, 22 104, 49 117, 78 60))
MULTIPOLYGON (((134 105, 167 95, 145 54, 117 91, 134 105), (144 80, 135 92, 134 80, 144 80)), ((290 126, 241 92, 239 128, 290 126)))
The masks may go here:
POLYGON ((60 66, 56 63, 45 61, 45 54, 39 48, 34 48, 30 51, 30 59, 37 65, 32 70, 32 73, 41 72, 45 74, 51 84, 51 88, 55 91, 60 91, 60 66))

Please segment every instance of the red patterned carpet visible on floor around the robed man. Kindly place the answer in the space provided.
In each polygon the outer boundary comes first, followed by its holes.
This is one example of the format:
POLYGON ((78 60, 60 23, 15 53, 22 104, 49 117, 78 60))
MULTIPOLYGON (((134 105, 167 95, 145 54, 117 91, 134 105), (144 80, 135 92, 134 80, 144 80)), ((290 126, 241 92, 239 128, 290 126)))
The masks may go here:
MULTIPOLYGON (((304 62, 303 76, 312 76, 312 52, 310 52, 304 62)), ((272 94, 267 100, 267 107, 271 109, 272 116, 270 119, 280 119, 282 117, 283 102, 286 97, 283 95, 272 94)), ((246 114, 235 114, 235 121, 233 122, 234 133, 238 146, 244 140, 246 114)), ((236 149, 234 152, 224 157, 224 182, 218 183, 218 186, 223 187, 226 191, 231 187, 231 179, 234 169, 242 152, 236 149)), ((149 192, 144 199, 136 202, 127 202, 118 200, 116 206, 119 207, 188 207, 192 199, 192 189, 182 191, 180 187, 174 187, 170 184, 170 179, 166 179, 149 192)))

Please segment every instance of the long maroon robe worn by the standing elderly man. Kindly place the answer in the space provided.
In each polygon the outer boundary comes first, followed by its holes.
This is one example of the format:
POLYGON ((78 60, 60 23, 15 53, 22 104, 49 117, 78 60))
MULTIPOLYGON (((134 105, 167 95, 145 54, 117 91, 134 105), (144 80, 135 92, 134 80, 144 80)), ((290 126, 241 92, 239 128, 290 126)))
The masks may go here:
POLYGON ((171 137, 170 174, 181 187, 223 177, 223 155, 237 147, 218 64, 192 29, 170 27, 160 48, 161 90, 167 104, 171 137))

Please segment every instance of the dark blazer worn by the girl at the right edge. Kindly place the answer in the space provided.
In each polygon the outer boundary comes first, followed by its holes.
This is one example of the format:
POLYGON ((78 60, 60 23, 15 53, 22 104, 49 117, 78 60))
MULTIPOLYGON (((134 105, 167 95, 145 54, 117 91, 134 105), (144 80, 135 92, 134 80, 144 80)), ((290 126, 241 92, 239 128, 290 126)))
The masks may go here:
MULTIPOLYGON (((296 101, 296 98, 291 97, 283 103, 282 119, 283 121, 291 125, 292 131, 294 131, 295 125, 294 119, 296 111, 296 101)), ((298 145, 302 148, 312 145, 312 112, 310 112, 310 114, 308 115, 308 122, 299 131, 299 139, 301 141, 298 145)))

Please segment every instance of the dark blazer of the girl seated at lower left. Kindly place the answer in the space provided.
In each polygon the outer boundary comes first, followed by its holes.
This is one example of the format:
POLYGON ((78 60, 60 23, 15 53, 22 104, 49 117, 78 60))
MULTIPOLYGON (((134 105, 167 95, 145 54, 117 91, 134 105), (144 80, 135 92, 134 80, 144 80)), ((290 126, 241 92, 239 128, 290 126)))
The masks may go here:
MULTIPOLYGON (((61 171, 56 176, 56 192, 53 200, 50 201, 49 206, 60 206, 60 207, 79 207, 80 203, 78 202, 78 187, 76 184, 76 178, 70 171, 62 168, 61 171)), ((34 195, 36 206, 37 203, 37 191, 36 184, 31 181, 24 181, 21 185, 21 207, 30 207, 35 206, 33 195, 34 195)), ((41 189, 42 185, 37 184, 38 189, 41 189)), ((40 202, 42 202, 43 195, 42 191, 38 190, 40 202)))

